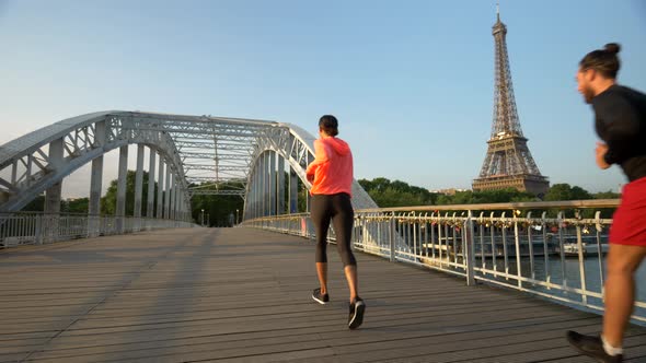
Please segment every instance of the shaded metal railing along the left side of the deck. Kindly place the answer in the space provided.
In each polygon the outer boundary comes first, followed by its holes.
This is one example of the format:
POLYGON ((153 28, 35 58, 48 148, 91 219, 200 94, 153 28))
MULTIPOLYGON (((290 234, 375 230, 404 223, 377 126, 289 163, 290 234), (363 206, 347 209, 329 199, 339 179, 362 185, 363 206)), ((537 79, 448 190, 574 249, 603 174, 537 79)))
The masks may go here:
POLYGON ((0 248, 76 238, 196 226, 152 218, 39 212, 0 213, 0 248))

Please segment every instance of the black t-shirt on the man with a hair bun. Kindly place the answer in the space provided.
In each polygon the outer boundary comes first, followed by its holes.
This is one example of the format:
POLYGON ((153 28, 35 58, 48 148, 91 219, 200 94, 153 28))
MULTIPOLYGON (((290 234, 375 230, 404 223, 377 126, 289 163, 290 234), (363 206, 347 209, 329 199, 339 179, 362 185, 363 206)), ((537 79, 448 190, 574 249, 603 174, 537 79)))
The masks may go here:
POLYGON ((608 144, 605 162, 628 180, 646 177, 646 95, 614 84, 592 98, 597 133, 608 144))

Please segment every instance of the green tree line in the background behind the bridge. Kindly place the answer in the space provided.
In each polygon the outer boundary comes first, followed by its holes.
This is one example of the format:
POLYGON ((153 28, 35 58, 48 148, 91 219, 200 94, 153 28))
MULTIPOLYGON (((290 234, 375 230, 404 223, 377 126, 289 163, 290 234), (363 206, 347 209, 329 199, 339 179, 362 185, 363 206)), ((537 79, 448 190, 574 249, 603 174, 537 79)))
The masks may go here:
MULTIPOLYGON (((126 215, 132 215, 135 210, 135 177, 134 171, 128 171, 126 177, 126 215)), ((287 177, 287 175, 286 175, 287 177)), ((486 191, 455 191, 453 195, 431 192, 426 188, 409 185, 402 180, 390 180, 384 177, 377 177, 371 180, 359 179, 361 187, 374 200, 380 208, 389 207, 414 207, 414 206, 448 206, 448 204, 478 204, 478 203, 503 203, 503 202, 521 202, 521 201, 540 201, 534 195, 519 191, 512 188, 486 191)), ((191 185, 189 187, 196 187, 191 185)), ((220 184, 203 184, 199 186, 207 190, 240 190, 243 188, 242 182, 230 182, 220 184)), ((153 215, 157 215, 157 194, 158 184, 154 183, 154 202, 153 215)), ((299 212, 305 211, 305 198, 308 190, 302 183, 299 183, 299 212)), ((117 180, 112 180, 105 196, 101 198, 101 214, 114 215, 116 209, 117 180)), ((287 195, 287 194, 286 194, 287 195)), ((569 184, 554 184, 545 194, 545 201, 562 200, 587 200, 587 199, 614 199, 620 195, 613 191, 589 192, 579 186, 569 184)), ((147 215, 148 207, 148 173, 143 172, 143 191, 141 196, 142 215, 147 215)), ((44 196, 38 196, 30 202, 23 211, 43 211, 45 202, 44 196)), ((285 204, 288 204, 287 196, 285 204)), ((61 213, 82 213, 89 211, 89 198, 77 198, 61 200, 61 213)), ((197 195, 192 198, 192 216, 196 222, 201 222, 201 210, 204 209, 205 223, 212 226, 224 226, 231 224, 231 219, 238 221, 242 219, 244 200, 240 196, 217 196, 217 195, 197 195)), ((555 211, 553 211, 555 212, 555 211)), ((589 211, 591 212, 591 211, 589 211)), ((589 214, 587 212, 586 214, 589 214)), ((610 211, 603 211, 608 215, 610 211)), ((589 215, 586 215, 589 216, 589 215)))

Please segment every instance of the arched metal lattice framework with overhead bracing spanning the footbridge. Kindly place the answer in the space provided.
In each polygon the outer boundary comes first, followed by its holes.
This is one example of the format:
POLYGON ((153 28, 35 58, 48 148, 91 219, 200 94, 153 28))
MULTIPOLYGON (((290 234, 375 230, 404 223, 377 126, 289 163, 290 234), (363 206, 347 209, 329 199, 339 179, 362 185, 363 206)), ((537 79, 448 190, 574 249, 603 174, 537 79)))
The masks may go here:
MULTIPOLYGON (((246 196, 251 172, 266 150, 278 152, 309 187, 305 168, 313 160, 313 141, 299 127, 275 121, 118 110, 82 115, 0 147, 0 211, 20 210, 77 168, 127 144, 145 144, 159 153, 186 201, 197 192, 246 196), (64 161, 53 163, 48 145, 59 139, 64 161), (244 190, 189 189, 191 184, 240 180, 244 190)), ((160 160, 160 178, 161 166, 160 160)), ((354 189, 358 207, 376 207, 356 182, 354 189)))

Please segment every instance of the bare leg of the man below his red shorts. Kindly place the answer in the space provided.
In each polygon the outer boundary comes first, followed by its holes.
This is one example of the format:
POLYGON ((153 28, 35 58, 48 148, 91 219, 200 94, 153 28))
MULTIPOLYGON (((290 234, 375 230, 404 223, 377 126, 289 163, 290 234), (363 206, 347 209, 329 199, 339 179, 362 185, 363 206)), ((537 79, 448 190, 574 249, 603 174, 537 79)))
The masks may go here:
POLYGON ((603 338, 621 348, 635 304, 634 273, 646 257, 646 247, 611 244, 607 259, 603 338))

